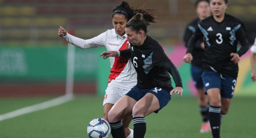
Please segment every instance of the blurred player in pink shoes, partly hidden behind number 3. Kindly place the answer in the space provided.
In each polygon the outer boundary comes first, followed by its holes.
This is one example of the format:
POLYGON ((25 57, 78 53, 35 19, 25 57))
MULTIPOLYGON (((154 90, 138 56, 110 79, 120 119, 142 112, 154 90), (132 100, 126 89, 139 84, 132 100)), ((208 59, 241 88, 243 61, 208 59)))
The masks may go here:
MULTIPOLYGON (((184 34, 184 42, 186 47, 188 47, 188 42, 190 37, 193 35, 195 28, 200 20, 205 19, 210 16, 210 2, 209 0, 197 0, 195 2, 195 8, 197 13, 197 18, 194 19, 186 28, 186 32, 184 34)), ((204 94, 203 80, 202 80, 202 58, 204 52, 204 42, 203 36, 197 40, 194 49, 192 51, 193 60, 191 61, 191 74, 193 78, 194 85, 198 94, 198 104, 199 110, 202 115, 202 125, 200 129, 200 133, 210 132, 210 123, 208 122, 208 113, 209 113, 209 100, 207 96, 204 94)))

